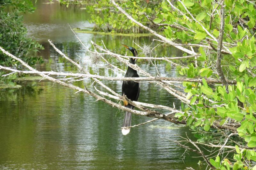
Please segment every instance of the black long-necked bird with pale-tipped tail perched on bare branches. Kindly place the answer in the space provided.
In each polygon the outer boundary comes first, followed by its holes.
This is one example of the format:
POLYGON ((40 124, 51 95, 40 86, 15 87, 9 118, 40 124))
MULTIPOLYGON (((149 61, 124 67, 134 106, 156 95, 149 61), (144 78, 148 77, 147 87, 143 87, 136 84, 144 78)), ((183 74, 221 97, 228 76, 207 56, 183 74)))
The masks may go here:
MULTIPOLYGON (((138 53, 135 48, 128 47, 124 44, 122 44, 125 48, 129 49, 134 57, 138 56, 138 53)), ((137 58, 130 58, 129 62, 132 64, 135 64, 137 58)), ((128 69, 126 71, 126 74, 124 77, 139 77, 137 70, 132 69, 128 66, 128 69)), ((140 94, 140 83, 135 81, 123 81, 122 85, 122 95, 126 95, 126 97, 132 101, 137 101, 140 94)), ((124 106, 130 109, 133 109, 133 106, 128 104, 128 102, 124 101, 124 106)), ((130 132, 130 128, 125 128, 131 126, 132 121, 132 113, 131 112, 125 112, 124 116, 124 123, 122 128, 123 135, 127 135, 130 132)))

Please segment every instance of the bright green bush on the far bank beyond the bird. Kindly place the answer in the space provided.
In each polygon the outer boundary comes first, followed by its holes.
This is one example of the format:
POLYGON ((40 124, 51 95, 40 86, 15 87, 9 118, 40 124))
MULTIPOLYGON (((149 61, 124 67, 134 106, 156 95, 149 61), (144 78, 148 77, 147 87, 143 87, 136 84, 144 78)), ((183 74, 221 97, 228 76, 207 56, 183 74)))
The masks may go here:
MULTIPOLYGON (((109 3, 109 0, 95 1, 92 4, 93 5, 88 5, 87 9, 91 13, 90 22, 95 24, 95 31, 113 33, 143 33, 145 31, 129 20, 124 14, 118 11, 118 9, 113 7, 113 5, 109 3)), ((159 3, 154 1, 147 3, 145 0, 137 0, 123 1, 119 5, 135 20, 150 28, 154 28, 144 15, 138 14, 146 12, 147 15, 155 18, 159 14, 159 3)))

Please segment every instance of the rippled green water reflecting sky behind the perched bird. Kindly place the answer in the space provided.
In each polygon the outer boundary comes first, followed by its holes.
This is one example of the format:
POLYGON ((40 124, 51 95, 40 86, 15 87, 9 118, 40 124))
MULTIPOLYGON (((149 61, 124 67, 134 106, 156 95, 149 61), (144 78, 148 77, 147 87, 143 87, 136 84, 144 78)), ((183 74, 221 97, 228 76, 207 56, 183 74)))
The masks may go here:
MULTIPOLYGON (((38 54, 45 61, 36 66, 38 70, 76 70, 53 50, 47 42, 50 39, 91 73, 124 76, 117 70, 106 69, 103 62, 93 65, 71 32, 67 24, 72 28, 93 26, 86 21, 89 15, 80 9, 82 7, 66 8, 44 2, 47 1, 38 0, 35 13, 25 15, 28 35, 45 48, 38 54)), ((120 43, 138 48, 133 41, 141 45, 156 38, 77 35, 88 48, 92 48, 91 40, 100 45, 103 40, 110 50, 120 54, 128 52, 120 43)), ((181 55, 169 46, 160 46, 154 53, 158 56, 181 55)), ((124 64, 106 57, 126 70, 124 64)), ((155 67, 148 62, 139 60, 137 64, 156 75, 155 67)), ((156 64, 162 76, 176 76, 175 70, 165 70, 165 63, 156 64)), ((121 94, 121 81, 104 83, 121 94)), ((197 162, 202 159, 193 158, 198 155, 190 152, 182 160, 184 149, 169 141, 181 140, 179 136, 186 136, 186 132, 192 138, 186 126, 158 120, 133 128, 129 135, 123 136, 120 127, 124 113, 116 108, 46 80, 18 84, 22 88, 0 90, 0 169, 199 169, 197 162)), ((85 80, 84 84, 90 90, 96 85, 92 80, 85 80)), ((176 108, 180 107, 179 100, 151 83, 141 83, 139 101, 170 107, 174 103, 176 108)), ((133 115, 132 125, 150 119, 133 115)))

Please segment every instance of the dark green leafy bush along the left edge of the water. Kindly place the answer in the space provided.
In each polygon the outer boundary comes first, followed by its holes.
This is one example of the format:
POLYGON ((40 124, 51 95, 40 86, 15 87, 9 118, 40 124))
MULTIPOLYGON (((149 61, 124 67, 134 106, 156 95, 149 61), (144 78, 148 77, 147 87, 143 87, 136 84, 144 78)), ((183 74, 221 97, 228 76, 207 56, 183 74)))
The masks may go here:
MULTIPOLYGON (((42 58, 28 56, 43 47, 26 37, 27 29, 23 26, 21 12, 33 12, 35 8, 30 0, 4 0, 0 2, 0 46, 15 56, 19 56, 29 65, 42 63, 42 58)), ((20 63, 0 53, 0 64, 7 67, 20 67, 20 63)), ((4 74, 4 72, 0 72, 4 74)), ((2 78, 7 81, 12 78, 2 78)))

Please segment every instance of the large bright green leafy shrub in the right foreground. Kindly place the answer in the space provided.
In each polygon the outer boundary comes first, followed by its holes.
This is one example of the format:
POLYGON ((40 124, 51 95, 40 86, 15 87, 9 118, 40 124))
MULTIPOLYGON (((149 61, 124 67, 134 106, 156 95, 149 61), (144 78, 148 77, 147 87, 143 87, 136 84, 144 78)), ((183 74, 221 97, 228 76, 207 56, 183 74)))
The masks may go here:
POLYGON ((230 51, 231 54, 222 54, 221 64, 226 78, 237 81, 236 85, 228 85, 226 91, 225 86, 207 84, 207 78, 219 78, 215 69, 217 55, 215 50, 203 48, 203 45, 208 45, 210 42, 211 46, 217 49, 220 5, 213 0, 181 2, 174 2, 174 6, 181 11, 179 12, 173 10, 168 2, 163 1, 162 11, 154 20, 157 23, 175 24, 187 28, 180 30, 164 26, 163 33, 167 38, 183 44, 201 45, 197 49, 201 54, 197 57, 198 67, 189 64, 188 68, 181 68, 179 74, 187 78, 201 78, 202 83, 183 83, 190 105, 182 106, 184 114, 177 113, 176 116, 179 121, 187 122, 198 142, 224 144, 226 137, 223 138, 220 133, 228 135, 231 132, 225 128, 220 130, 213 125, 236 124, 238 135, 230 137, 226 145, 239 144, 240 148, 236 146, 236 151, 232 152, 233 156, 230 160, 217 156, 215 159, 210 159, 210 162, 216 169, 221 170, 256 169, 255 162, 252 162, 256 160, 256 153, 243 147, 256 148, 255 4, 244 0, 224 1, 223 45, 227 48, 222 49, 230 51), (241 23, 241 20, 244 22, 241 23), (233 162, 230 162, 231 160, 233 162))

